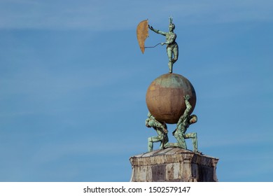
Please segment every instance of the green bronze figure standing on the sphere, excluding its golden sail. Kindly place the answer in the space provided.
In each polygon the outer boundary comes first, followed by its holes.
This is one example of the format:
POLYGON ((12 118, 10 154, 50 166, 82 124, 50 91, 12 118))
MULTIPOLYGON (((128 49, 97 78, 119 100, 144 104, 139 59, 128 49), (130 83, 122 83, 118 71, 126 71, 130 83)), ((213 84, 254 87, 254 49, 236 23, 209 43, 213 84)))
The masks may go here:
POLYGON ((172 73, 173 64, 179 58, 179 45, 176 43, 176 34, 174 33, 175 25, 172 23, 172 17, 169 18, 169 32, 154 29, 150 25, 148 25, 148 27, 155 33, 166 36, 166 41, 162 42, 161 45, 167 45, 167 55, 169 57, 169 73, 172 73))

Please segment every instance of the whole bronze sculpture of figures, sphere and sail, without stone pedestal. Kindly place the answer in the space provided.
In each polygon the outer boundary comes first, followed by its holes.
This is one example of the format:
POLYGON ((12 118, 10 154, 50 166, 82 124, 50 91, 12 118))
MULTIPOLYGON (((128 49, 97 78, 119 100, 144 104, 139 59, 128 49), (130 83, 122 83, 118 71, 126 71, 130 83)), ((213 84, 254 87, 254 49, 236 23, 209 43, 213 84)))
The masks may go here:
MULTIPOLYGON (((158 136, 148 138, 148 151, 153 151, 153 143, 160 142, 160 149, 168 147, 179 147, 187 149, 185 139, 192 139, 193 151, 198 152, 197 133, 186 133, 188 127, 197 122, 197 116, 191 115, 195 109, 196 94, 190 81, 173 72, 173 65, 179 57, 179 45, 176 43, 175 25, 172 17, 169 18, 169 32, 154 29, 148 25, 148 20, 139 23, 137 35, 141 51, 144 53, 144 41, 148 36, 148 28, 157 34, 166 37, 166 41, 161 45, 167 45, 167 56, 169 58, 169 73, 155 78, 148 87, 146 93, 146 104, 148 107, 148 118, 146 127, 153 127, 158 136), (176 143, 169 143, 167 136, 167 125, 176 124, 176 130, 172 132, 176 138, 176 143)), ((158 43, 159 45, 160 43, 158 43)))

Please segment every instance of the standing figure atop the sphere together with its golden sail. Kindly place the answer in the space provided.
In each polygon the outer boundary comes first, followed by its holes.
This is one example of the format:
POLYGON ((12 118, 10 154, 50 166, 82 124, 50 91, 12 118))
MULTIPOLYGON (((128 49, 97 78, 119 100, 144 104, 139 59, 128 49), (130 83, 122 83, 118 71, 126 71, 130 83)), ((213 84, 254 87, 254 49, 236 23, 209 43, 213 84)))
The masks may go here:
POLYGON ((169 17, 169 32, 160 31, 158 29, 154 29, 152 26, 148 25, 148 19, 139 22, 137 26, 137 40, 139 41, 139 47, 141 52, 145 52, 145 48, 155 48, 157 45, 167 45, 167 55, 169 58, 169 73, 172 73, 172 67, 174 63, 179 58, 179 45, 176 43, 176 34, 174 33, 175 25, 172 23, 172 16, 169 17), (145 46, 146 38, 149 36, 148 29, 154 31, 157 34, 161 34, 162 36, 166 36, 166 41, 162 43, 158 43, 155 46, 145 46))

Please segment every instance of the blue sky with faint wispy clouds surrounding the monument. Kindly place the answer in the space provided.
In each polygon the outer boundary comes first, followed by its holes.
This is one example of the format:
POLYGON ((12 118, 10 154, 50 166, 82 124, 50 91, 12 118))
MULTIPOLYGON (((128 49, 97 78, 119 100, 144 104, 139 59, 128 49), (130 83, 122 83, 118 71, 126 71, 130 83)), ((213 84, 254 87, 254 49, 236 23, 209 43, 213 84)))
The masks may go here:
MULTIPOLYGON (((155 135, 144 125, 146 90, 168 72, 165 46, 143 55, 136 27, 148 18, 168 31, 169 15, 174 73, 197 94, 198 123, 188 132, 220 159, 218 180, 273 181, 272 7, 0 0, 0 181, 129 181, 129 158, 155 135)), ((150 32, 146 45, 162 41, 150 32)))

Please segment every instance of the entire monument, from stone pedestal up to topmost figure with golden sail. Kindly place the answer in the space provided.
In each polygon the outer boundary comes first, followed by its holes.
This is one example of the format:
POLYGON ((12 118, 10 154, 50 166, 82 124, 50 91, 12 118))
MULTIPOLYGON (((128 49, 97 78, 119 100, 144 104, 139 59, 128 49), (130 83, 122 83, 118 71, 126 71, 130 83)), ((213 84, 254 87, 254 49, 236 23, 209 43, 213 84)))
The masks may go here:
MULTIPOLYGON (((216 176, 218 158, 203 155, 199 151, 197 132, 192 130, 197 123, 197 115, 193 114, 197 102, 195 88, 188 78, 173 73, 173 65, 179 57, 179 46, 176 43, 174 29, 172 16, 169 17, 168 32, 154 29, 148 25, 148 20, 139 22, 137 26, 137 39, 142 53, 146 48, 155 48, 157 45, 167 46, 169 73, 155 78, 146 92, 148 115, 145 125, 148 130, 155 131, 155 134, 148 137, 146 153, 130 158, 132 165, 130 181, 133 182, 218 181, 216 176), (155 46, 145 46, 149 29, 165 36, 166 40, 155 46), (174 131, 169 132, 169 124, 176 124, 174 131), (169 133, 176 141, 169 140, 169 133), (190 148, 187 139, 192 141, 193 146, 190 148), (159 144, 159 149, 154 149, 154 144, 159 144)), ((160 69, 160 67, 154 68, 160 69)), ((145 74, 150 75, 150 73, 145 74)))

